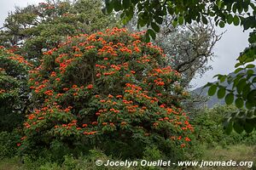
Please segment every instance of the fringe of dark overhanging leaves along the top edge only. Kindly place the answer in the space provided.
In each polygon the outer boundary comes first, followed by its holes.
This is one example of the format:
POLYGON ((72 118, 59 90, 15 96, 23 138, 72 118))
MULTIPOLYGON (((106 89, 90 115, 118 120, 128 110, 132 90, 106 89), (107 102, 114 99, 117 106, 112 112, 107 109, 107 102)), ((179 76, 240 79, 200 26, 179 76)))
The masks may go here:
MULTIPOLYGON (((172 21, 173 26, 191 24, 192 21, 208 23, 208 18, 214 18, 216 26, 224 27, 226 23, 234 24, 235 26, 244 26, 244 29, 255 28, 255 2, 247 1, 212 1, 211 3, 201 2, 195 0, 189 1, 121 1, 108 0, 106 1, 106 8, 103 11, 108 14, 113 11, 122 11, 121 17, 125 22, 131 20, 133 14, 137 12, 138 20, 137 26, 151 26, 153 30, 149 34, 155 37, 155 32, 159 32, 163 18, 170 14, 175 16, 172 21), (120 5, 122 2, 122 6, 120 5), (129 3, 128 3, 129 2, 129 3), (253 13, 248 9, 253 9, 253 13), (157 24, 156 24, 157 23, 157 24)), ((149 30, 149 29, 148 29, 149 30)), ((149 37, 149 35, 146 35, 149 37)))

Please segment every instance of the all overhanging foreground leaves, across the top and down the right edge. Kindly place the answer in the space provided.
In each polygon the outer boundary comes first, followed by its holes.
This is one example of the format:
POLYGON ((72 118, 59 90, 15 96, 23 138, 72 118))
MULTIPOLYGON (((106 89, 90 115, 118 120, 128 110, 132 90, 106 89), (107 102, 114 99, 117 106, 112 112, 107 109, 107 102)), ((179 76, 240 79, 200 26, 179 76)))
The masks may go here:
POLYGON ((246 112, 241 111, 227 119, 225 127, 228 133, 232 127, 238 133, 244 129, 251 132, 256 127, 256 74, 251 70, 255 67, 253 61, 256 59, 256 2, 254 0, 105 0, 105 4, 106 8, 102 9, 103 12, 109 14, 113 9, 122 11, 121 18, 124 23, 131 20, 134 13, 137 13, 137 26, 149 27, 146 33, 147 41, 149 36, 155 39, 155 32, 160 31, 160 25, 167 14, 175 17, 172 21, 173 26, 191 24, 193 21, 207 24, 209 20, 214 20, 215 25, 220 27, 233 24, 242 26, 244 30, 252 29, 248 38, 249 47, 237 59, 236 76, 216 76, 220 82, 226 80, 233 84, 233 88, 227 89, 219 82, 207 83, 207 87, 210 87, 209 95, 215 94, 218 89, 218 98, 225 98, 226 104, 235 103, 237 108, 246 109, 246 112))

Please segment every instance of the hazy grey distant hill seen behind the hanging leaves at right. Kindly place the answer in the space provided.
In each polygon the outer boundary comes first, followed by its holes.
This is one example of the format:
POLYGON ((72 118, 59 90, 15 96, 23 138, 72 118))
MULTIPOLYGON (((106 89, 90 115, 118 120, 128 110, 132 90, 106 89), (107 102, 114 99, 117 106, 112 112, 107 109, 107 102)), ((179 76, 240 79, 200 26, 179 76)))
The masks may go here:
MULTIPOLYGON (((256 68, 254 68, 253 71, 256 72, 256 68)), ((234 72, 232 72, 229 75, 231 77, 234 77, 236 74, 234 72)), ((232 85, 229 85, 227 82, 223 82, 221 84, 223 84, 224 86, 227 86, 228 88, 232 88, 232 85)), ((216 94, 214 96, 208 96, 207 95, 208 88, 204 88, 204 89, 202 89, 202 88, 203 88, 203 86, 200 88, 195 88, 195 90, 192 91, 192 94, 195 93, 195 94, 201 95, 203 97, 207 97, 207 102, 204 105, 206 105, 208 108, 212 108, 214 105, 217 105, 217 104, 219 104, 219 105, 225 104, 224 99, 218 99, 216 94)))

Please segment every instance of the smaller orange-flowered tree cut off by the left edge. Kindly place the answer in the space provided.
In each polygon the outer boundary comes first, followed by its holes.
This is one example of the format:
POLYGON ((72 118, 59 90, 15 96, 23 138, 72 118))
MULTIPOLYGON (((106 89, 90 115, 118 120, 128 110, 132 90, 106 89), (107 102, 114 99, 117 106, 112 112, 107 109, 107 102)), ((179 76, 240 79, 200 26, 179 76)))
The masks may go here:
POLYGON ((0 47, 1 131, 11 131, 22 122, 27 100, 26 75, 30 66, 20 55, 0 47))

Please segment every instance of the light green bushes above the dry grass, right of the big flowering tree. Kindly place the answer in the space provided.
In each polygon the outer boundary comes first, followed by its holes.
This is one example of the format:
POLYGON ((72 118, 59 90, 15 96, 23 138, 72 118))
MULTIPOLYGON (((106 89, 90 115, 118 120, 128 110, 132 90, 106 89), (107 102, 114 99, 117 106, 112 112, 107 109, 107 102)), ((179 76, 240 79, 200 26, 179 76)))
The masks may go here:
POLYGON ((235 105, 218 105, 212 109, 201 111, 197 113, 192 119, 191 123, 195 127, 195 136, 202 144, 207 147, 214 147, 217 145, 233 145, 233 144, 255 144, 256 133, 240 133, 239 125, 227 129, 223 127, 226 117, 230 117, 231 113, 236 112, 235 105), (230 135, 226 135, 229 131, 230 135))

